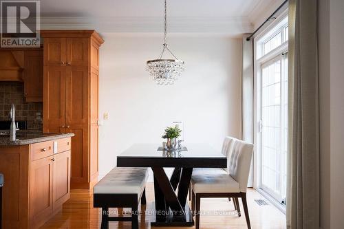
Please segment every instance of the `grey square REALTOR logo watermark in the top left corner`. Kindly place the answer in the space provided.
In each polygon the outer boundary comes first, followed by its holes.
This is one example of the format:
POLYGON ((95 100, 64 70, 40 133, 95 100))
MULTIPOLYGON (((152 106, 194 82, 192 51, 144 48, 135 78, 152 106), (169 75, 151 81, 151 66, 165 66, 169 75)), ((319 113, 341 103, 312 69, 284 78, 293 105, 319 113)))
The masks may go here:
POLYGON ((40 1, 0 0, 0 46, 39 47, 40 1))

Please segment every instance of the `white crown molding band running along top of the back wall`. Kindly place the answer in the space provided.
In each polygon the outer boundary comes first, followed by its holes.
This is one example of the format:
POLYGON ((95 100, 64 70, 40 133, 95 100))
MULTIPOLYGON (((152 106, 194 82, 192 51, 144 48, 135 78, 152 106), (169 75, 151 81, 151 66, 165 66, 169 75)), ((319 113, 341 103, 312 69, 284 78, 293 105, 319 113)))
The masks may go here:
MULTIPOLYGON (((169 17, 173 34, 222 34, 252 32, 248 17, 169 17)), ((41 30, 95 29, 102 33, 161 33, 163 17, 41 17, 41 30)))

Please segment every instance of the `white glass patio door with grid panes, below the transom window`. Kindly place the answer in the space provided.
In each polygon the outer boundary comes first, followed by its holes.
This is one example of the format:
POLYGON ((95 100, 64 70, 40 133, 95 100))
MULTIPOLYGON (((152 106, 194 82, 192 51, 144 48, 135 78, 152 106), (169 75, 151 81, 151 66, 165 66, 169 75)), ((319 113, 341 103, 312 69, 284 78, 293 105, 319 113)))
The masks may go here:
POLYGON ((261 188, 285 203, 288 55, 261 65, 261 188))

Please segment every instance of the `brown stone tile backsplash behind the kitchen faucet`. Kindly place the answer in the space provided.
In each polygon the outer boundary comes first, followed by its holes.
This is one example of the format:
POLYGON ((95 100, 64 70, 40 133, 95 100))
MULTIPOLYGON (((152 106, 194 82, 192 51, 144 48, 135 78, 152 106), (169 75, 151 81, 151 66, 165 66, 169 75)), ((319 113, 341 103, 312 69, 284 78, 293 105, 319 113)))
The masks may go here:
POLYGON ((16 108, 16 120, 28 122, 28 129, 43 129, 43 103, 25 102, 23 83, 0 82, 0 120, 9 120, 11 104, 16 108))

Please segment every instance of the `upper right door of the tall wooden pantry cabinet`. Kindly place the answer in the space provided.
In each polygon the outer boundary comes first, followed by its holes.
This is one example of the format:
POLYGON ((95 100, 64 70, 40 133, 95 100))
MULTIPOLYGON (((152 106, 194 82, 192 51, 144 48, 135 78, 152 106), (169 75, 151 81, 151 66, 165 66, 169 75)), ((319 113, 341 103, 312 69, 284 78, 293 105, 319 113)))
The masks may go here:
POLYGON ((89 39, 69 38, 67 39, 67 65, 88 66, 89 65, 89 39))

